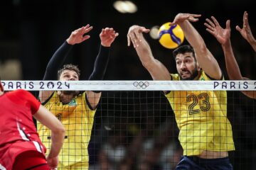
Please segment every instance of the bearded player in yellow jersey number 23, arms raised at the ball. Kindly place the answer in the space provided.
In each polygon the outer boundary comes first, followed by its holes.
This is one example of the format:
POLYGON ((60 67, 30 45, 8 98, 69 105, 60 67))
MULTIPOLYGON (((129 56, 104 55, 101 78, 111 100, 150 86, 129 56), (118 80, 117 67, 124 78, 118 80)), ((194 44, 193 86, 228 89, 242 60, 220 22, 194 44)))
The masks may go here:
MULTIPOLYGON (((191 44, 174 50, 178 74, 154 58, 143 33, 142 26, 129 28, 128 45, 134 45, 143 66, 154 80, 222 80, 218 62, 206 47, 203 38, 190 22, 201 15, 179 13, 171 25, 181 26, 186 40, 191 44)), ((227 118, 225 91, 164 91, 174 110, 179 128, 183 157, 176 169, 233 169, 228 151, 234 150, 233 132, 227 118)))

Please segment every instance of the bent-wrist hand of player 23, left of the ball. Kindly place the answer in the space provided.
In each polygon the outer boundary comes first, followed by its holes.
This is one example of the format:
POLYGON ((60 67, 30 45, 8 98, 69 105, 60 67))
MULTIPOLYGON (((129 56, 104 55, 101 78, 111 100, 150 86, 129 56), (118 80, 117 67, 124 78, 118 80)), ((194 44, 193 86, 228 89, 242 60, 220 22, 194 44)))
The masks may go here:
POLYGON ((134 45, 134 48, 139 47, 139 42, 142 42, 142 33, 149 33, 149 29, 142 26, 131 26, 127 33, 127 45, 134 45))

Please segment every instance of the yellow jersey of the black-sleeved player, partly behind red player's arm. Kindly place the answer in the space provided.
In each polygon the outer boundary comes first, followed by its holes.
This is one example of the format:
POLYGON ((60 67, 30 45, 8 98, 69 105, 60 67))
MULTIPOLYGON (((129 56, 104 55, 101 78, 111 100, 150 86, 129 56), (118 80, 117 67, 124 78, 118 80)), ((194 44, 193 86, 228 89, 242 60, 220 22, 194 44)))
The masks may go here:
MULTIPOLYGON (((82 165, 82 169, 87 169, 89 163, 87 147, 90 142, 95 111, 87 105, 85 92, 73 98, 70 103, 63 104, 55 91, 44 106, 65 127, 65 140, 59 154, 58 169, 60 167, 68 169, 78 164, 82 165)), ((50 130, 38 123, 38 134, 49 152, 50 130)))

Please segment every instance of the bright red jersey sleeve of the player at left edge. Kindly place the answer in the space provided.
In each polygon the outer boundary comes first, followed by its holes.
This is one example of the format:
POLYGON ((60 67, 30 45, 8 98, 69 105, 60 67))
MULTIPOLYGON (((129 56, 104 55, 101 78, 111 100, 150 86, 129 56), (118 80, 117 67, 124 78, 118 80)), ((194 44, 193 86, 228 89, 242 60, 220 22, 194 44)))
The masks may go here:
POLYGON ((41 103, 38 100, 36 100, 36 98, 30 92, 22 89, 11 91, 6 95, 14 103, 17 103, 19 105, 25 105, 28 106, 28 108, 31 108, 32 114, 35 114, 41 105, 41 103))

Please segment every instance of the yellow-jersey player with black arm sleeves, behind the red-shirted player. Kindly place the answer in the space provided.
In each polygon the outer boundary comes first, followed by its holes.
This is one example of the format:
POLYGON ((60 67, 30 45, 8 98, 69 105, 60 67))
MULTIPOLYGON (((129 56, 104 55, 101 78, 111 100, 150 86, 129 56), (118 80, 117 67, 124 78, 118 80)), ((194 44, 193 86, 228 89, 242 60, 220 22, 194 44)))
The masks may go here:
MULTIPOLYGON (((80 70, 73 64, 65 64, 68 52, 73 45, 90 38, 85 35, 92 27, 87 25, 74 30, 50 59, 44 80, 57 79, 74 81, 80 79, 80 70)), ((89 80, 102 80, 109 62, 110 45, 117 37, 113 28, 104 28, 100 33, 100 52, 89 80)), ((89 155, 87 147, 100 91, 40 91, 39 99, 60 121, 66 129, 63 148, 59 154, 58 169, 88 169, 89 155)), ((38 123, 38 134, 46 148, 50 148, 50 130, 38 123)))

